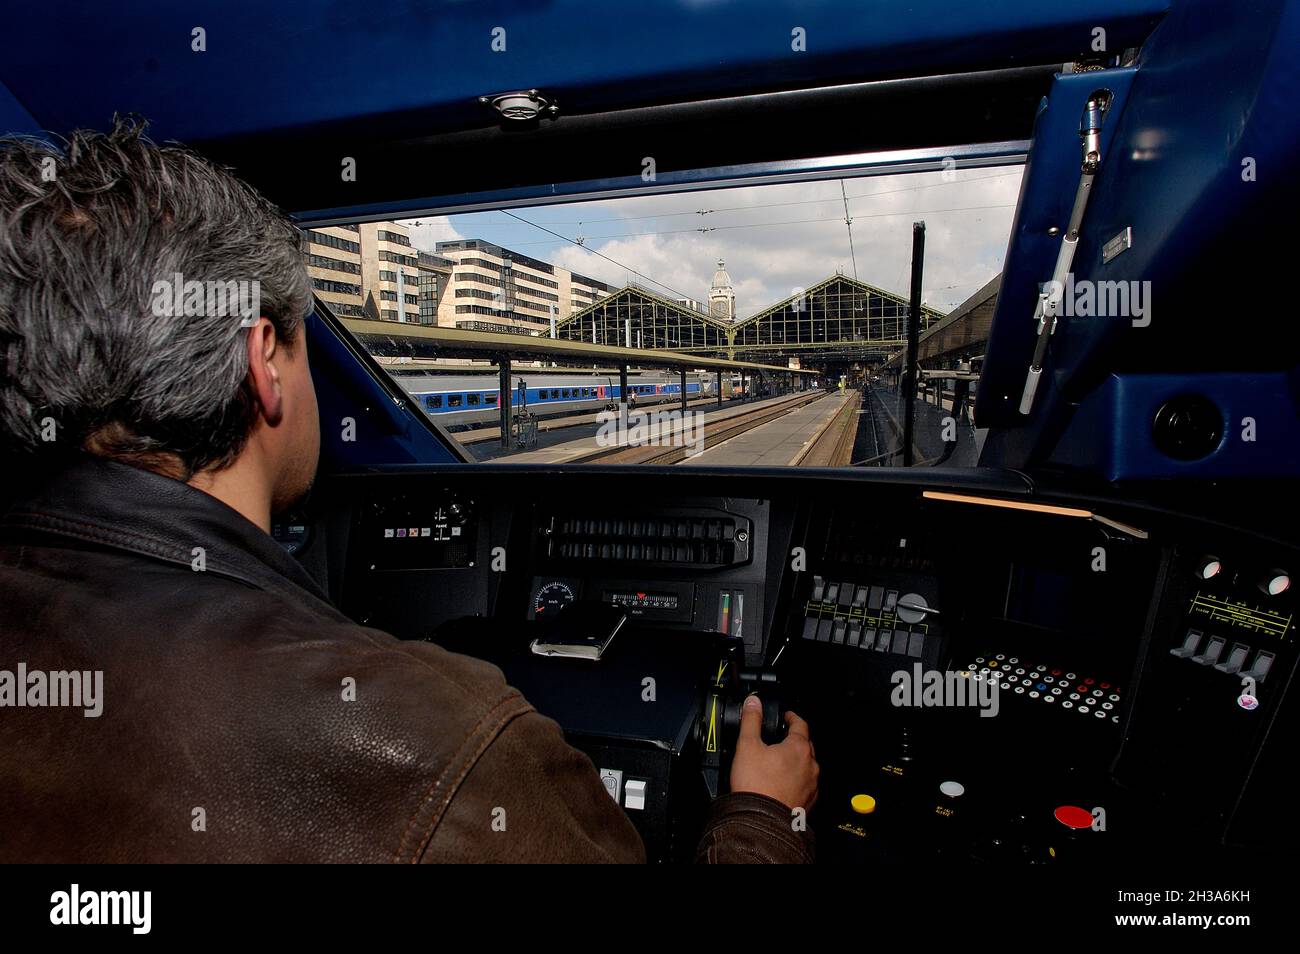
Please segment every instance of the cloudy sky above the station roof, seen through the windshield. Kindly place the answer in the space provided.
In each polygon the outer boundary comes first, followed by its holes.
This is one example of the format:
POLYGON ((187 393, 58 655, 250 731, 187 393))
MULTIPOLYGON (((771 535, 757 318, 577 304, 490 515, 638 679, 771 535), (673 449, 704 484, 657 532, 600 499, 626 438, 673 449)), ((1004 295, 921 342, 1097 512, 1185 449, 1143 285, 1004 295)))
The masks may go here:
POLYGON ((407 220, 412 243, 477 238, 616 287, 707 300, 718 259, 748 317, 837 270, 906 298, 911 224, 926 222, 926 304, 949 311, 1002 268, 1020 168, 646 195, 407 220), (564 238, 550 235, 545 226, 564 238), (706 230, 706 231, 702 231, 706 230), (573 240, 582 239, 582 246, 573 240), (568 239, 568 240, 566 240, 568 239), (607 257, 601 257, 601 252, 607 257), (612 261, 610 261, 612 260, 612 261), (636 273, 641 273, 640 276, 636 273))

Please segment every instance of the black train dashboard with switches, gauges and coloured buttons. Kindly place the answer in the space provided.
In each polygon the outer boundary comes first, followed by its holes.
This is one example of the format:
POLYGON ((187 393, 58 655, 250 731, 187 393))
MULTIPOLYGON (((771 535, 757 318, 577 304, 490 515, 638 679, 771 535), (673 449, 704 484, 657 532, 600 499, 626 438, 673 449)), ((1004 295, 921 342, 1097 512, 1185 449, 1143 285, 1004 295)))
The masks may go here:
POLYGON ((499 665, 653 860, 690 858, 738 706, 811 727, 828 862, 1296 851, 1294 547, 1017 474, 326 478, 285 542, 352 619, 499 665), (671 491, 671 493, 670 493, 671 491), (598 660, 530 645, 616 606, 598 660))

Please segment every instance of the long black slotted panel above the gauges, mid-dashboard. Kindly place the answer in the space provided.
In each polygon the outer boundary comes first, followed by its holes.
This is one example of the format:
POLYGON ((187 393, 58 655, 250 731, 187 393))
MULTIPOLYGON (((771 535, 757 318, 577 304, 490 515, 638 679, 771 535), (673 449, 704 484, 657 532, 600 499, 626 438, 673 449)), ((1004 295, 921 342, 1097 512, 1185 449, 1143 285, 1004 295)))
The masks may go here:
POLYGON ((725 511, 677 513, 556 513, 541 525, 556 560, 645 567, 734 567, 749 563, 753 526, 725 511))

